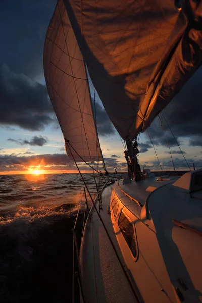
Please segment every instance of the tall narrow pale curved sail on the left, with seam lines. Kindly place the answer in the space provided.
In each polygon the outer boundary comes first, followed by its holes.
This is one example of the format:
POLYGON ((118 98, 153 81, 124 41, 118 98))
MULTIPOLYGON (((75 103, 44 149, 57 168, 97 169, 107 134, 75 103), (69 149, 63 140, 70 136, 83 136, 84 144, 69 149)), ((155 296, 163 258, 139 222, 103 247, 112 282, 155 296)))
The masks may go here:
MULTIPOLYGON (((44 74, 64 137, 85 161, 102 160, 85 65, 63 0, 58 1, 48 27, 44 74)), ((66 150, 71 157, 67 144, 66 150)), ((82 162, 74 150, 72 153, 82 162)))

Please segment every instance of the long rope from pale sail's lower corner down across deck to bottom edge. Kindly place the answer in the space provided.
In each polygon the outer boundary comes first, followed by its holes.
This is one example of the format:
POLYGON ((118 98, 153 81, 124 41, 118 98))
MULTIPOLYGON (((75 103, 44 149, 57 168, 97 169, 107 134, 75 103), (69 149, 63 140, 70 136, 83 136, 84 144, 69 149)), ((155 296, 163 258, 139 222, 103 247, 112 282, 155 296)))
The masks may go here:
MULTIPOLYGON (((68 144, 69 146, 71 146, 69 142, 67 142, 67 144, 68 144)), ((114 246, 114 243, 113 243, 113 241, 112 241, 112 239, 111 239, 111 237, 110 237, 110 235, 109 235, 109 233, 108 233, 108 230, 107 230, 107 228, 106 228, 106 226, 105 226, 105 223, 104 223, 104 221, 103 221, 103 219, 102 219, 102 216, 99 214, 99 211, 98 211, 98 209, 97 209, 97 207, 96 207, 96 205, 95 205, 95 201, 93 200, 93 198, 92 198, 92 196, 91 196, 91 194, 90 194, 90 191, 89 191, 89 189, 88 189, 88 186, 87 186, 87 184, 85 183, 85 180, 84 180, 84 178, 83 178, 83 175, 82 175, 82 173, 81 173, 81 171, 80 171, 80 169, 79 169, 79 167, 78 167, 78 165, 77 165, 77 163, 76 163, 76 160, 75 160, 75 158, 74 158, 74 155, 73 155, 72 150, 71 150, 70 147, 69 147, 69 150, 70 150, 70 153, 71 153, 71 155, 72 155, 72 158, 73 158, 73 160, 74 160, 74 162, 75 162, 75 164, 76 164, 76 167, 77 167, 77 169, 78 169, 78 171, 79 171, 79 174, 80 174, 80 176, 81 176, 81 179, 82 179, 82 181, 83 181, 83 183, 84 183, 84 185, 85 185, 85 187, 86 187, 86 189, 87 189, 87 192, 88 192, 89 197, 90 197, 90 199, 91 199, 91 201, 92 201, 92 204, 93 204, 93 206, 94 206, 94 208, 95 208, 95 211, 96 211, 96 213, 97 213, 97 216, 99 217, 99 220, 100 220, 100 222, 102 223, 102 226, 103 226, 103 228, 104 228, 104 230, 105 230, 105 232, 106 232, 106 234, 107 234, 107 237, 108 237, 108 239, 109 239, 109 241, 110 241, 110 244, 112 245, 112 248, 113 248, 113 250, 114 250, 114 252, 115 252, 115 255, 116 255, 116 257, 117 257, 117 259, 118 259, 118 261, 119 261, 119 264, 120 264, 120 266, 121 266, 121 268, 122 268, 122 270, 123 270, 123 272, 124 272, 124 274, 125 274, 125 277, 126 277, 128 283, 129 283, 130 287, 131 287, 131 290, 132 290, 132 292, 133 292, 133 294, 134 294, 136 300, 138 301, 138 303, 141 303, 141 300, 139 299, 139 297, 138 297, 138 295, 137 295, 137 293, 136 293, 136 290, 134 289, 134 285, 133 285, 133 283, 132 283, 130 277, 128 276, 126 269, 124 268, 124 265, 122 264, 122 261, 121 261, 121 259, 120 259, 120 257, 119 257, 118 252, 116 251, 116 248, 115 248, 115 246, 114 246)))

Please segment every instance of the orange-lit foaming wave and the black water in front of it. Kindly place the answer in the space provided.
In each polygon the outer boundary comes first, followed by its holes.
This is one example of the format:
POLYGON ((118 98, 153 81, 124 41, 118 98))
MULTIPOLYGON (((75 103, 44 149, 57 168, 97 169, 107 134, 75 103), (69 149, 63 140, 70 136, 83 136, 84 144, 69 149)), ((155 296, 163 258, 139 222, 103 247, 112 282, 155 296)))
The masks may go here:
POLYGON ((71 300, 77 209, 74 203, 35 201, 0 212, 1 302, 71 300))

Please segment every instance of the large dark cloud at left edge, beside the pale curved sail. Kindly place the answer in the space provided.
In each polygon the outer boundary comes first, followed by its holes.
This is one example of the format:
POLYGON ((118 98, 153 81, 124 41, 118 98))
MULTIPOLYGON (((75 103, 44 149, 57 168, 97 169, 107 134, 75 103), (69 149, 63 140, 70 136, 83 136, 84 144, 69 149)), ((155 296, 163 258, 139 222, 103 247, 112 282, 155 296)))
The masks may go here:
POLYGON ((11 72, 6 65, 1 68, 0 96, 0 124, 34 131, 43 130, 54 121, 46 87, 11 72))

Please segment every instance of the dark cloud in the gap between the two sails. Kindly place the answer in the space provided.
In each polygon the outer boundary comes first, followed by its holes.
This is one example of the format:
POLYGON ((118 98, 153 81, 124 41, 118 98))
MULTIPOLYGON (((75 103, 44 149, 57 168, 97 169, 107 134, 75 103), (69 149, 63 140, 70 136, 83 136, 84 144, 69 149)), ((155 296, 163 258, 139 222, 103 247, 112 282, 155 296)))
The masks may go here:
MULTIPOLYGON (((92 102, 94 106, 94 100, 92 102)), ((98 102, 95 103, 96 107, 96 123, 97 131, 100 136, 112 135, 115 133, 115 128, 110 121, 106 111, 98 102)))

